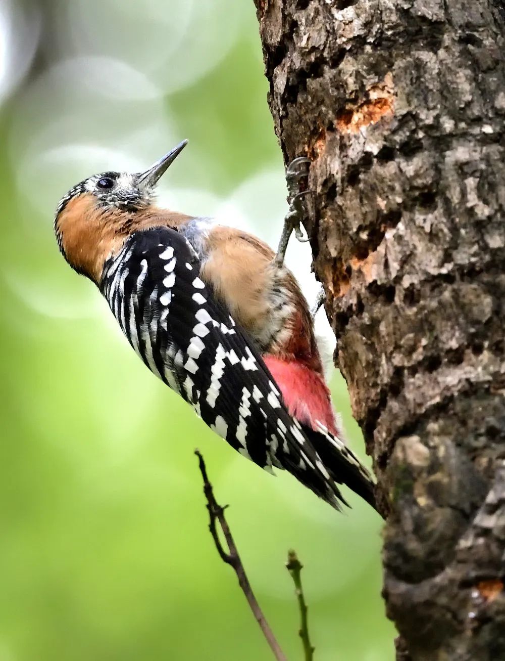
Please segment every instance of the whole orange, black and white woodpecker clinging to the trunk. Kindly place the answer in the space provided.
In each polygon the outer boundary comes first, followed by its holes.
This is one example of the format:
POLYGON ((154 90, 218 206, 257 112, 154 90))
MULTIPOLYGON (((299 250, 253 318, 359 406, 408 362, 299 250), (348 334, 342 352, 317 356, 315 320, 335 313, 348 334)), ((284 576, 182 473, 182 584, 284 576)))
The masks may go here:
POLYGON ((300 237, 300 180, 275 254, 253 235, 156 206, 160 177, 187 141, 143 173, 105 172, 60 200, 59 249, 110 305, 127 340, 242 455, 286 469, 337 510, 345 483, 376 506, 368 471, 345 445, 308 303, 284 266, 300 237))

